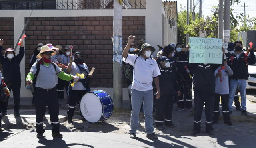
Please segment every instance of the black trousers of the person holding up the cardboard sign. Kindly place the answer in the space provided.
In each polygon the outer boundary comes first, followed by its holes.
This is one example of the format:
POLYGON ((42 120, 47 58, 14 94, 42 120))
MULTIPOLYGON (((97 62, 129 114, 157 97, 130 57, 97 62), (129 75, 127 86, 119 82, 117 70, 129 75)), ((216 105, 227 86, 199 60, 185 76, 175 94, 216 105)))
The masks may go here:
POLYGON ((201 130, 201 116, 202 110, 205 103, 205 116, 206 116, 206 131, 213 130, 212 128, 212 116, 213 116, 213 108, 214 108, 214 93, 202 93, 195 91, 194 92, 194 126, 193 130, 200 132, 201 130))

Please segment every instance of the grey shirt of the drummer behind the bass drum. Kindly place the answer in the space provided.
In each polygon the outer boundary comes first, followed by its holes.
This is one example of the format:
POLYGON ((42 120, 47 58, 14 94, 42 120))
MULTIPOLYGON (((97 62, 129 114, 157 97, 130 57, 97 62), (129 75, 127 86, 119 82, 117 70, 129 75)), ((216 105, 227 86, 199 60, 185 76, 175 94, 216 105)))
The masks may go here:
MULTIPOLYGON (((68 64, 69 65, 69 64, 68 64)), ((89 70, 88 70, 88 67, 85 63, 83 64, 79 64, 80 67, 83 67, 89 74, 89 70)), ((71 68, 71 71, 70 71, 70 74, 71 75, 76 75, 76 73, 80 73, 80 70, 78 68, 78 66, 76 65, 75 62, 72 62, 72 68, 71 68)), ((85 77, 83 79, 85 79, 86 77, 88 77, 88 75, 85 75, 85 77)), ((82 79, 82 78, 80 78, 82 79)), ((86 88, 84 87, 84 85, 82 84, 82 82, 76 82, 74 84, 74 87, 72 87, 72 90, 86 90, 86 88)))

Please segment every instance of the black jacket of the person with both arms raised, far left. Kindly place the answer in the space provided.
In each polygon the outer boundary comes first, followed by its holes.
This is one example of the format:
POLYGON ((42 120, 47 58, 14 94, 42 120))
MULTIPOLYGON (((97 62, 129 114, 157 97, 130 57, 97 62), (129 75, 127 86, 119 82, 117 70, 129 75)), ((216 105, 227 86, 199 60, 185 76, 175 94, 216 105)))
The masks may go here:
MULTIPOLYGON (((2 46, 0 46, 0 53, 2 53, 2 46)), ((11 83, 12 81, 20 81, 20 62, 25 54, 24 47, 20 47, 19 54, 14 56, 11 60, 7 57, 0 55, 0 63, 3 67, 3 77, 6 83, 11 83)))

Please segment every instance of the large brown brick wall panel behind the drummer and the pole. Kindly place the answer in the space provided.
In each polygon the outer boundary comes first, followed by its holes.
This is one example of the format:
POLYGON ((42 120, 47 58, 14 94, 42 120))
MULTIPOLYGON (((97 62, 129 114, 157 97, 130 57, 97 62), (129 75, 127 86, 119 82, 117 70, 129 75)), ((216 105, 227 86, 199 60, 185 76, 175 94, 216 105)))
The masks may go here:
MULTIPOLYGON (((128 36, 135 35, 137 44, 145 39, 145 17, 122 17, 123 47, 128 36)), ((26 19, 25 19, 26 21, 26 19)), ((29 61, 38 43, 73 45, 73 51, 84 53, 84 62, 96 70, 90 87, 113 87, 113 18, 112 17, 48 17, 30 18, 26 28, 26 74, 29 61)), ((123 78, 123 87, 127 87, 123 78)))

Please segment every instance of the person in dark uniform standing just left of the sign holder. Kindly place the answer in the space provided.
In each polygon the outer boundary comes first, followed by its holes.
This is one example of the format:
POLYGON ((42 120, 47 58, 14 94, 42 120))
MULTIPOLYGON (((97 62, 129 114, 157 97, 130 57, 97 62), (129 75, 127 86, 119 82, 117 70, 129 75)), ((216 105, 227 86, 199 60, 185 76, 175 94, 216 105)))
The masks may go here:
POLYGON ((181 95, 178 96, 177 111, 184 111, 184 101, 187 111, 192 111, 192 70, 188 63, 189 53, 186 48, 182 48, 182 43, 177 43, 176 47, 177 79, 180 86, 181 95))

